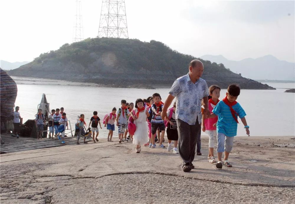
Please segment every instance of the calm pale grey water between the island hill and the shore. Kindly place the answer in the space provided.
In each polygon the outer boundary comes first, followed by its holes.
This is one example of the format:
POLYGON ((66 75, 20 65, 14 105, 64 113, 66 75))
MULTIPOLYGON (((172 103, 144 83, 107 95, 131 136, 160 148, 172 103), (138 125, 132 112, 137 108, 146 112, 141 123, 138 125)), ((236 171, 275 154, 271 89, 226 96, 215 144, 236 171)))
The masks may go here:
MULTIPOLYGON (((169 89, 105 88, 94 84, 48 79, 25 77, 13 77, 13 79, 18 87, 15 105, 20 107, 19 112, 24 122, 34 118, 41 96, 45 93, 50 103, 50 110, 64 107, 72 127, 81 113, 85 115, 87 125, 94 110, 98 111, 102 122, 104 115, 110 113, 113 107, 120 107, 121 99, 135 102, 137 98, 147 98, 158 92, 164 102, 169 92, 169 89)), ((284 93, 287 88, 295 88, 294 83, 268 83, 268 85, 279 89, 242 89, 237 99, 247 113, 250 136, 294 136, 295 94, 284 93)), ((226 90, 222 89, 219 99, 223 99, 225 93, 226 90)), ((238 136, 246 136, 243 127, 242 124, 238 125, 238 136)), ((100 136, 105 137, 107 132, 103 127, 100 136)))

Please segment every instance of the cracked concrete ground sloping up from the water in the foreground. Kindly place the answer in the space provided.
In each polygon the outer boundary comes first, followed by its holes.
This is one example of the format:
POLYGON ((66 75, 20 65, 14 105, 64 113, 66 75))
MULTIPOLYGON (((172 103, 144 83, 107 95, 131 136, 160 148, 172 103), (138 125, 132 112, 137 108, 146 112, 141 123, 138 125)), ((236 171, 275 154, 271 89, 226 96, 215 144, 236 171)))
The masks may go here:
MULTIPOLYGON (((276 143, 294 143, 280 137, 276 143)), ((294 148, 236 137, 233 168, 207 162, 208 139, 189 173, 178 154, 131 143, 67 145, 1 154, 1 203, 293 203, 294 148), (257 146, 259 142, 260 146, 257 146), (252 160, 252 161, 251 161, 252 160), (255 162, 253 162, 255 161, 255 162)), ((166 143, 164 143, 166 144, 166 143)))

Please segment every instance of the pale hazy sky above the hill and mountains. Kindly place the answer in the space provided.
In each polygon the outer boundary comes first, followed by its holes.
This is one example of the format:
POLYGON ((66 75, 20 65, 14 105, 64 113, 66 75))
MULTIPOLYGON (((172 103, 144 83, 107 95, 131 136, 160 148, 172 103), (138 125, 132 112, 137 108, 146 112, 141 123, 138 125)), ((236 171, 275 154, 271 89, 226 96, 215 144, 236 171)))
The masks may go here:
MULTIPOLYGON (((295 1, 126 0, 129 38, 199 57, 271 54, 294 62, 295 1)), ((101 0, 82 0, 84 38, 96 37, 101 0)), ((72 43, 75 0, 0 1, 0 59, 32 61, 72 43)))

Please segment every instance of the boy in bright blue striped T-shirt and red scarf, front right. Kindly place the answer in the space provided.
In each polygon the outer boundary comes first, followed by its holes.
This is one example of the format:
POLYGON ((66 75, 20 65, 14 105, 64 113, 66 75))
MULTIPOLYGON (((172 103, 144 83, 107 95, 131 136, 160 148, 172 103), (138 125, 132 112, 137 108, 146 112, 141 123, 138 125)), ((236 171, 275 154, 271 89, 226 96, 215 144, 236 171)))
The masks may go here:
MULTIPOLYGON (((250 135, 249 126, 246 121, 246 113, 241 105, 236 102, 240 95, 240 87, 236 84, 231 84, 227 88, 226 97, 220 101, 215 108, 212 110, 212 114, 208 118, 218 116, 217 121, 217 155, 218 162, 216 167, 222 168, 222 164, 226 167, 232 167, 230 162, 227 160, 232 151, 234 142, 234 136, 237 135, 237 116, 240 117, 242 123, 245 126, 247 135, 250 135), (222 153, 224 152, 224 160, 221 161, 222 153)), ((205 116, 206 117, 206 116, 205 116)))

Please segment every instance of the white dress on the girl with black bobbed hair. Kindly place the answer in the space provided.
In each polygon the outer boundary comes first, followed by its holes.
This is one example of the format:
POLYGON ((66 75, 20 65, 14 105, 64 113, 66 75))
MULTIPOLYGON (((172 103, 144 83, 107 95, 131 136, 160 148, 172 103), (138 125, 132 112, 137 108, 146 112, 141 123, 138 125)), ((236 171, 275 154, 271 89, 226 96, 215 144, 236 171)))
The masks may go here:
POLYGON ((133 136, 133 144, 144 145, 149 141, 147 115, 139 112, 138 118, 135 120, 136 130, 133 136))

